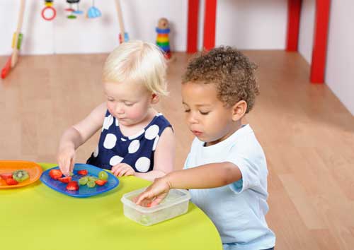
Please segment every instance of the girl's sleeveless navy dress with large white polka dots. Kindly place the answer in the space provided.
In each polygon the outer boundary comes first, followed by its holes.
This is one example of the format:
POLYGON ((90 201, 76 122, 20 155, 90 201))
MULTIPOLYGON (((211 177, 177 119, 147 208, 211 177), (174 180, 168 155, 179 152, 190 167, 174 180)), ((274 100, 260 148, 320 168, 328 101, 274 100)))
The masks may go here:
POLYGON ((92 153, 88 164, 112 169, 118 163, 127 163, 135 172, 149 172, 154 167, 154 152, 161 133, 172 127, 161 114, 134 136, 124 136, 120 131, 118 119, 106 112, 98 146, 92 153))

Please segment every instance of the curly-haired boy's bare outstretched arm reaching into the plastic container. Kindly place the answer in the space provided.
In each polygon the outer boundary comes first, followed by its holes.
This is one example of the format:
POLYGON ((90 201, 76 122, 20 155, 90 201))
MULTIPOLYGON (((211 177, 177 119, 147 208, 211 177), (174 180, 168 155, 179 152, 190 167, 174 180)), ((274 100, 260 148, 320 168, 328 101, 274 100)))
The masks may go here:
POLYGON ((144 193, 135 198, 135 203, 146 206, 158 204, 169 189, 211 189, 226 186, 241 179, 242 174, 231 162, 210 163, 200 167, 178 170, 158 178, 144 193))

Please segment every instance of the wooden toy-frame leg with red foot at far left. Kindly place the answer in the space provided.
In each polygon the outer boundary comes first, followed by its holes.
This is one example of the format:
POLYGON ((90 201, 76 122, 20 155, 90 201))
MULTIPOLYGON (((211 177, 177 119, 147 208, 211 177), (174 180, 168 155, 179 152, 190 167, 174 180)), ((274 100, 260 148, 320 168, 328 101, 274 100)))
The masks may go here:
POLYGON ((8 58, 4 68, 1 70, 1 78, 6 78, 8 73, 11 71, 13 67, 16 66, 16 63, 18 61, 18 53, 20 52, 21 49, 21 42, 23 35, 21 33, 21 28, 22 28, 22 23, 23 23, 23 14, 25 12, 25 0, 21 0, 20 4, 20 13, 18 13, 18 22, 17 22, 17 28, 16 31, 13 33, 12 37, 12 49, 13 52, 11 56, 8 58))

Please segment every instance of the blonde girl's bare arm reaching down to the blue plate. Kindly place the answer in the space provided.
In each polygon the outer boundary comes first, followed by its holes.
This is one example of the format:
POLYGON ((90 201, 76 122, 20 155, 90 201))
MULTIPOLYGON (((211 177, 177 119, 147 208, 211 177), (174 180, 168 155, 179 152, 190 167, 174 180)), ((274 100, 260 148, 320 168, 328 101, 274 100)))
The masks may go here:
POLYGON ((107 107, 103 103, 82 121, 64 131, 59 143, 57 161, 63 174, 69 175, 75 163, 75 150, 93 136, 103 124, 107 107))

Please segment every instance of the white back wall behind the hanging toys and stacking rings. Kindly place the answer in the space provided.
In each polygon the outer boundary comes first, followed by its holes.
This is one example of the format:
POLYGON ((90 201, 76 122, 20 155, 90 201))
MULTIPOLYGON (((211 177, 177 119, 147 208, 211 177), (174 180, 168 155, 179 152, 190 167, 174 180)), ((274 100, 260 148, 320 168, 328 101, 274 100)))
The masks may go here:
MULTIPOLYGON (((0 0, 0 55, 11 53, 11 37, 16 29, 19 0, 0 0)), ((118 44, 118 18, 114 0, 96 1, 103 17, 76 20, 65 18, 65 0, 55 0, 57 18, 45 21, 40 16, 44 1, 27 0, 23 23, 23 54, 110 52, 118 44)), ((156 22, 160 17, 171 22, 170 42, 174 51, 185 51, 188 0, 121 0, 125 29, 133 39, 155 42, 156 22)), ((87 11, 91 0, 82 0, 87 11)), ((200 1, 200 20, 204 6, 200 1)), ((219 0, 216 44, 239 49, 284 49, 287 0, 219 0)), ((200 22, 199 48, 202 47, 200 22)))

